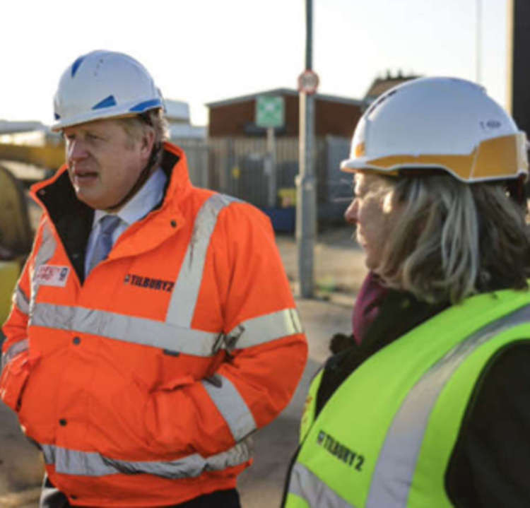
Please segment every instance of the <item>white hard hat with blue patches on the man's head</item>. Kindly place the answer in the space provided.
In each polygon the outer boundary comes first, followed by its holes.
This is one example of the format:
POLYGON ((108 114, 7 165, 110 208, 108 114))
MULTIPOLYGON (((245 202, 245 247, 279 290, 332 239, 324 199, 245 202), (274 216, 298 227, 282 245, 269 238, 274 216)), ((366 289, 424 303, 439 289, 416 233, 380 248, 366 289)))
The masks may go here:
POLYGON ((54 97, 53 131, 164 107, 148 71, 123 53, 93 51, 64 71, 54 97))

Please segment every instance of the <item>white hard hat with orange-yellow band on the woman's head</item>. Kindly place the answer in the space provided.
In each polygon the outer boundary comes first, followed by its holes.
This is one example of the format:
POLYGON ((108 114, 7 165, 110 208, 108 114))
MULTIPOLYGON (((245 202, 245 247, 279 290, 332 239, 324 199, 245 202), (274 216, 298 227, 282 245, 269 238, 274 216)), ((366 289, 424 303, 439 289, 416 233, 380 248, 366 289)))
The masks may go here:
POLYGON ((341 170, 397 175, 414 168, 445 170, 464 182, 526 176, 526 136, 471 81, 407 81, 363 114, 341 170))

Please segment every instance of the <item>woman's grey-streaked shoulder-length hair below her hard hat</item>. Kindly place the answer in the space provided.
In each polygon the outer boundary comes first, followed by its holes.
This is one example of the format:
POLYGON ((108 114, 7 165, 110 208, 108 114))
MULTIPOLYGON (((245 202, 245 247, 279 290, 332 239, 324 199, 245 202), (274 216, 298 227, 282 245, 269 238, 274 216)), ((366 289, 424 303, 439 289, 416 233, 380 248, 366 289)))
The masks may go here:
POLYGON ((500 288, 527 288, 530 235, 523 210, 500 182, 450 175, 383 177, 399 220, 377 273, 428 302, 459 302, 500 288))

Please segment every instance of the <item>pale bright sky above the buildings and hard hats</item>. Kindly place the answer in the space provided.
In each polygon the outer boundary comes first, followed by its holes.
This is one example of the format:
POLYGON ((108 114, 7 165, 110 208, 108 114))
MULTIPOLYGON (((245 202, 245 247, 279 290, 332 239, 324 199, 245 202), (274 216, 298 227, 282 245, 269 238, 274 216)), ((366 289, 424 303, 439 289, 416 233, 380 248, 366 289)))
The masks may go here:
MULTIPOLYGON (((387 70, 476 80, 505 105, 507 0, 313 0, 319 92, 362 98, 387 70)), ((165 98, 206 102, 295 88, 305 65, 305 0, 5 1, 0 119, 52 122, 59 76, 93 49, 131 54, 165 98)))

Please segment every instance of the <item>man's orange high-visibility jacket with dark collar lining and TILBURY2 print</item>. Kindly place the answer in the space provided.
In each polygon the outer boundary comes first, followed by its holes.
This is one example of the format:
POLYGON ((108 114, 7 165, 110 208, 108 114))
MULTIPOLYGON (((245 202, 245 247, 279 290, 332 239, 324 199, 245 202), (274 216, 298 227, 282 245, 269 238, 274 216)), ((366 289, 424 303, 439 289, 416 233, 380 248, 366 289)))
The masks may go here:
POLYGON ((234 488, 247 437, 307 358, 269 218, 192 187, 165 145, 165 198, 83 280, 93 211, 66 167, 4 326, 1 399, 71 504, 147 507, 234 488), (82 232, 82 234, 81 234, 82 232))

